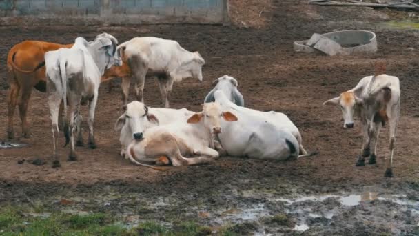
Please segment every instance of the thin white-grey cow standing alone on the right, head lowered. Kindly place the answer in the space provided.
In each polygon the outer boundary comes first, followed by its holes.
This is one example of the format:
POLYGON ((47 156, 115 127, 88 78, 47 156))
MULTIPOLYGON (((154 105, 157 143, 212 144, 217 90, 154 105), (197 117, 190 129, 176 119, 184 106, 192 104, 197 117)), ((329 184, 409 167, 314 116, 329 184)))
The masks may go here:
POLYGON ((356 166, 376 164, 377 139, 380 128, 389 121, 391 156, 387 161, 385 177, 392 177, 394 143, 396 129, 400 117, 400 86, 398 77, 390 75, 374 75, 362 78, 359 83, 343 92, 339 97, 325 101, 325 105, 338 105, 343 114, 343 128, 354 127, 354 116, 359 116, 362 122, 362 154, 358 157, 356 166))

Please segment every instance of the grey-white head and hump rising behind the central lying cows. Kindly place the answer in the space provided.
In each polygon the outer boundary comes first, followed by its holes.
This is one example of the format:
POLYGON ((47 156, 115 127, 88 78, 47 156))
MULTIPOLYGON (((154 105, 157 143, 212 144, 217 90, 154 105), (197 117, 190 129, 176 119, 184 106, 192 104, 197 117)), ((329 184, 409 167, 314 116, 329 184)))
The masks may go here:
POLYGON ((245 106, 245 100, 243 99, 243 95, 237 90, 237 80, 231 76, 223 75, 214 82, 212 85, 215 87, 208 93, 205 97, 204 103, 215 101, 214 99, 214 92, 217 90, 223 91, 223 93, 227 96, 229 101, 232 101, 237 106, 245 106))

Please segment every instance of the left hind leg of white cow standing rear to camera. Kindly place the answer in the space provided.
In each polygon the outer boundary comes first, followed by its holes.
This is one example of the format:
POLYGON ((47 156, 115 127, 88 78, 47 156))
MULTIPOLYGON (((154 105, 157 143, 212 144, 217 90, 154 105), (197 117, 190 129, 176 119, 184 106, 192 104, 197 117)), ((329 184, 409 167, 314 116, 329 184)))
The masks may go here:
POLYGON ((52 125, 52 145, 53 145, 53 159, 52 168, 58 168, 60 166, 59 158, 57 155, 57 140, 59 137, 59 107, 62 101, 62 96, 58 92, 53 92, 48 95, 48 107, 50 108, 50 118, 52 125))

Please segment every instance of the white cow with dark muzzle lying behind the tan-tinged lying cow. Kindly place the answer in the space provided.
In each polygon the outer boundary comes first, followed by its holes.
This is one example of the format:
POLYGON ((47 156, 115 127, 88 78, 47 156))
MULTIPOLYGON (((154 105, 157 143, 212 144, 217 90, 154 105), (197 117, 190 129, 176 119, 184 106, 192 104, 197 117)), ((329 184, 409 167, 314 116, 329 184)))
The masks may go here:
POLYGON ((132 101, 123 106, 124 113, 115 123, 115 130, 121 130, 119 141, 121 141, 121 156, 127 158, 125 149, 132 140, 142 139, 143 132, 148 128, 174 123, 176 121, 187 121, 194 112, 183 109, 170 108, 148 108, 139 101, 132 101))

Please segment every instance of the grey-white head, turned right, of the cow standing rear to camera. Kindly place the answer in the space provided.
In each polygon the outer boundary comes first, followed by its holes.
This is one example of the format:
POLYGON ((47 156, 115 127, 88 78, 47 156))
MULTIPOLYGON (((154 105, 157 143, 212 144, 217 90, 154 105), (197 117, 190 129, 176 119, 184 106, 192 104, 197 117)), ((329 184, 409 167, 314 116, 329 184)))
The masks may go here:
POLYGON ((109 69, 112 66, 122 66, 121 52, 116 50, 118 46, 118 40, 108 33, 102 33, 96 36, 94 41, 99 42, 99 50, 105 52, 105 69, 109 69))

